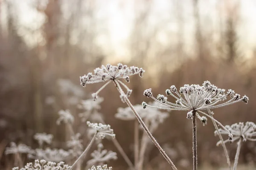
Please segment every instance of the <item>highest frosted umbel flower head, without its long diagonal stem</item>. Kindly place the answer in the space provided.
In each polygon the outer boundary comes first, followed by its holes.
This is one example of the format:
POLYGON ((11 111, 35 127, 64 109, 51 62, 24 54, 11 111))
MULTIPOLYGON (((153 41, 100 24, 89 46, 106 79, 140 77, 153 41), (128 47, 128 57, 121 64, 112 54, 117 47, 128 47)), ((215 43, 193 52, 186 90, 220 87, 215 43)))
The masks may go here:
MULTIPOLYGON (((143 77, 144 72, 145 71, 142 68, 134 66, 128 67, 127 65, 122 65, 121 63, 119 63, 117 66, 107 64, 106 66, 102 65, 102 68, 96 68, 94 70, 94 74, 88 73, 87 75, 81 76, 80 82, 83 87, 85 87, 86 84, 106 82, 105 85, 103 85, 96 93, 92 95, 93 100, 98 98, 99 92, 102 91, 102 89, 105 88, 111 82, 111 80, 118 85, 122 85, 127 90, 126 96, 128 97, 131 95, 131 90, 119 79, 125 79, 126 82, 130 82, 130 76, 139 74, 140 77, 143 77)), ((123 100, 123 96, 121 95, 120 97, 123 100)))

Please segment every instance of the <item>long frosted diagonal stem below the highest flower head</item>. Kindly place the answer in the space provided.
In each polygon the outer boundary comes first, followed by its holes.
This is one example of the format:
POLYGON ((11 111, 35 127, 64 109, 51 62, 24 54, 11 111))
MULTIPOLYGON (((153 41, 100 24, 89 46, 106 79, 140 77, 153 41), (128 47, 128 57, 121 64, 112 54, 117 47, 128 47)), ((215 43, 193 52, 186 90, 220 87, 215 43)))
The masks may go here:
MULTIPOLYGON (((113 80, 114 84, 116 85, 117 90, 119 91, 119 93, 121 95, 125 95, 124 92, 122 91, 122 88, 120 87, 119 83, 116 82, 115 80, 113 80)), ((175 167, 175 165, 173 164, 173 162, 171 161, 171 159, 169 158, 169 156, 165 153, 165 151, 162 149, 162 147, 160 146, 160 144, 157 143, 157 140, 154 139, 154 137, 152 136, 152 134, 149 132, 148 127, 146 127, 145 123, 143 122, 143 120, 141 119, 140 115, 137 113, 137 111, 135 110, 135 108, 133 107, 133 105, 131 104, 131 102, 129 101, 129 99, 127 98, 127 96, 125 95, 125 102, 127 103, 127 105, 131 108, 131 110, 133 111, 134 115, 136 116, 136 118, 138 119, 138 121, 140 122, 140 125, 142 125, 143 129, 145 130, 145 132, 148 134, 149 138, 152 140, 152 142, 156 145, 157 149, 160 151, 160 153, 162 153, 163 157, 168 161, 168 163, 172 166, 173 170, 177 170, 177 168, 175 167)))

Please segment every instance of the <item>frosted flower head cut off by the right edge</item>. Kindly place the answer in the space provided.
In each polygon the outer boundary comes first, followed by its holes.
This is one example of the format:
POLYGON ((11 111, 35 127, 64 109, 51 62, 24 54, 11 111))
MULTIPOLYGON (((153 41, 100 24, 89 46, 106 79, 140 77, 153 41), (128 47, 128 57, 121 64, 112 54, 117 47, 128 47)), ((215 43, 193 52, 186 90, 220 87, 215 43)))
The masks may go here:
MULTIPOLYGON (((243 139, 243 142, 249 141, 256 141, 256 138, 252 138, 256 136, 256 125, 253 122, 246 122, 245 125, 243 122, 235 123, 233 125, 226 125, 227 130, 234 136, 231 142, 239 140, 240 138, 243 139)), ((223 129, 219 129, 219 132, 224 135, 228 135, 227 131, 223 129)), ((217 135, 217 130, 215 130, 214 134, 217 135)), ((228 142, 228 140, 224 141, 224 143, 228 142)), ((221 141, 217 143, 220 145, 221 141)))

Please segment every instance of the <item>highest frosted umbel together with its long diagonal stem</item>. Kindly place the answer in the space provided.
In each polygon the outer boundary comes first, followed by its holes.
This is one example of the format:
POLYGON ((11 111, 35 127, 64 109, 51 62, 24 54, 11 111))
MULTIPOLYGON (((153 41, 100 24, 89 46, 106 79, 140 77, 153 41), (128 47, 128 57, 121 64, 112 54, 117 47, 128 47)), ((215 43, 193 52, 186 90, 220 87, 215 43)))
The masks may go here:
POLYGON ((143 73, 145 71, 142 68, 138 67, 128 67, 127 65, 122 65, 119 63, 117 66, 113 66, 110 64, 107 64, 106 66, 102 65, 102 68, 96 68, 94 70, 94 74, 88 73, 87 75, 84 75, 80 77, 80 82, 83 87, 85 87, 86 84, 92 84, 92 83, 98 83, 98 82, 105 82, 105 84, 94 94, 92 94, 93 99, 96 100, 98 98, 98 94, 100 91, 102 91, 103 88, 105 88, 111 81, 116 86, 116 89, 120 93, 120 99, 122 102, 126 102, 127 105, 131 108, 134 115, 142 125, 143 129, 148 134, 149 138, 152 140, 152 142, 156 145, 160 153, 164 156, 164 158, 168 161, 168 163, 172 166, 174 170, 177 170, 169 156, 164 152, 162 147, 157 143, 156 139, 152 136, 152 134, 149 132, 148 128, 146 127, 143 120, 140 118, 137 111, 134 109, 133 105, 129 101, 128 97, 131 95, 132 90, 130 90, 123 82, 121 82, 119 79, 125 79, 126 82, 130 82, 129 77, 133 76, 135 74, 139 74, 140 77, 143 77, 143 73), (127 91, 126 94, 122 90, 122 87, 125 88, 127 91))

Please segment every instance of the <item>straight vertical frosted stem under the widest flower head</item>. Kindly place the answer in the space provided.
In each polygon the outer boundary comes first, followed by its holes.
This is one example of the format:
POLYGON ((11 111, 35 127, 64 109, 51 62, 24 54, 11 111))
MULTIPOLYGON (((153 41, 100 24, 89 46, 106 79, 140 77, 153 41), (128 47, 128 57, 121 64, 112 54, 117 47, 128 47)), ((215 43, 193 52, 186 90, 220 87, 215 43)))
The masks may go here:
POLYGON ((197 170, 196 111, 193 111, 193 170, 197 170))

